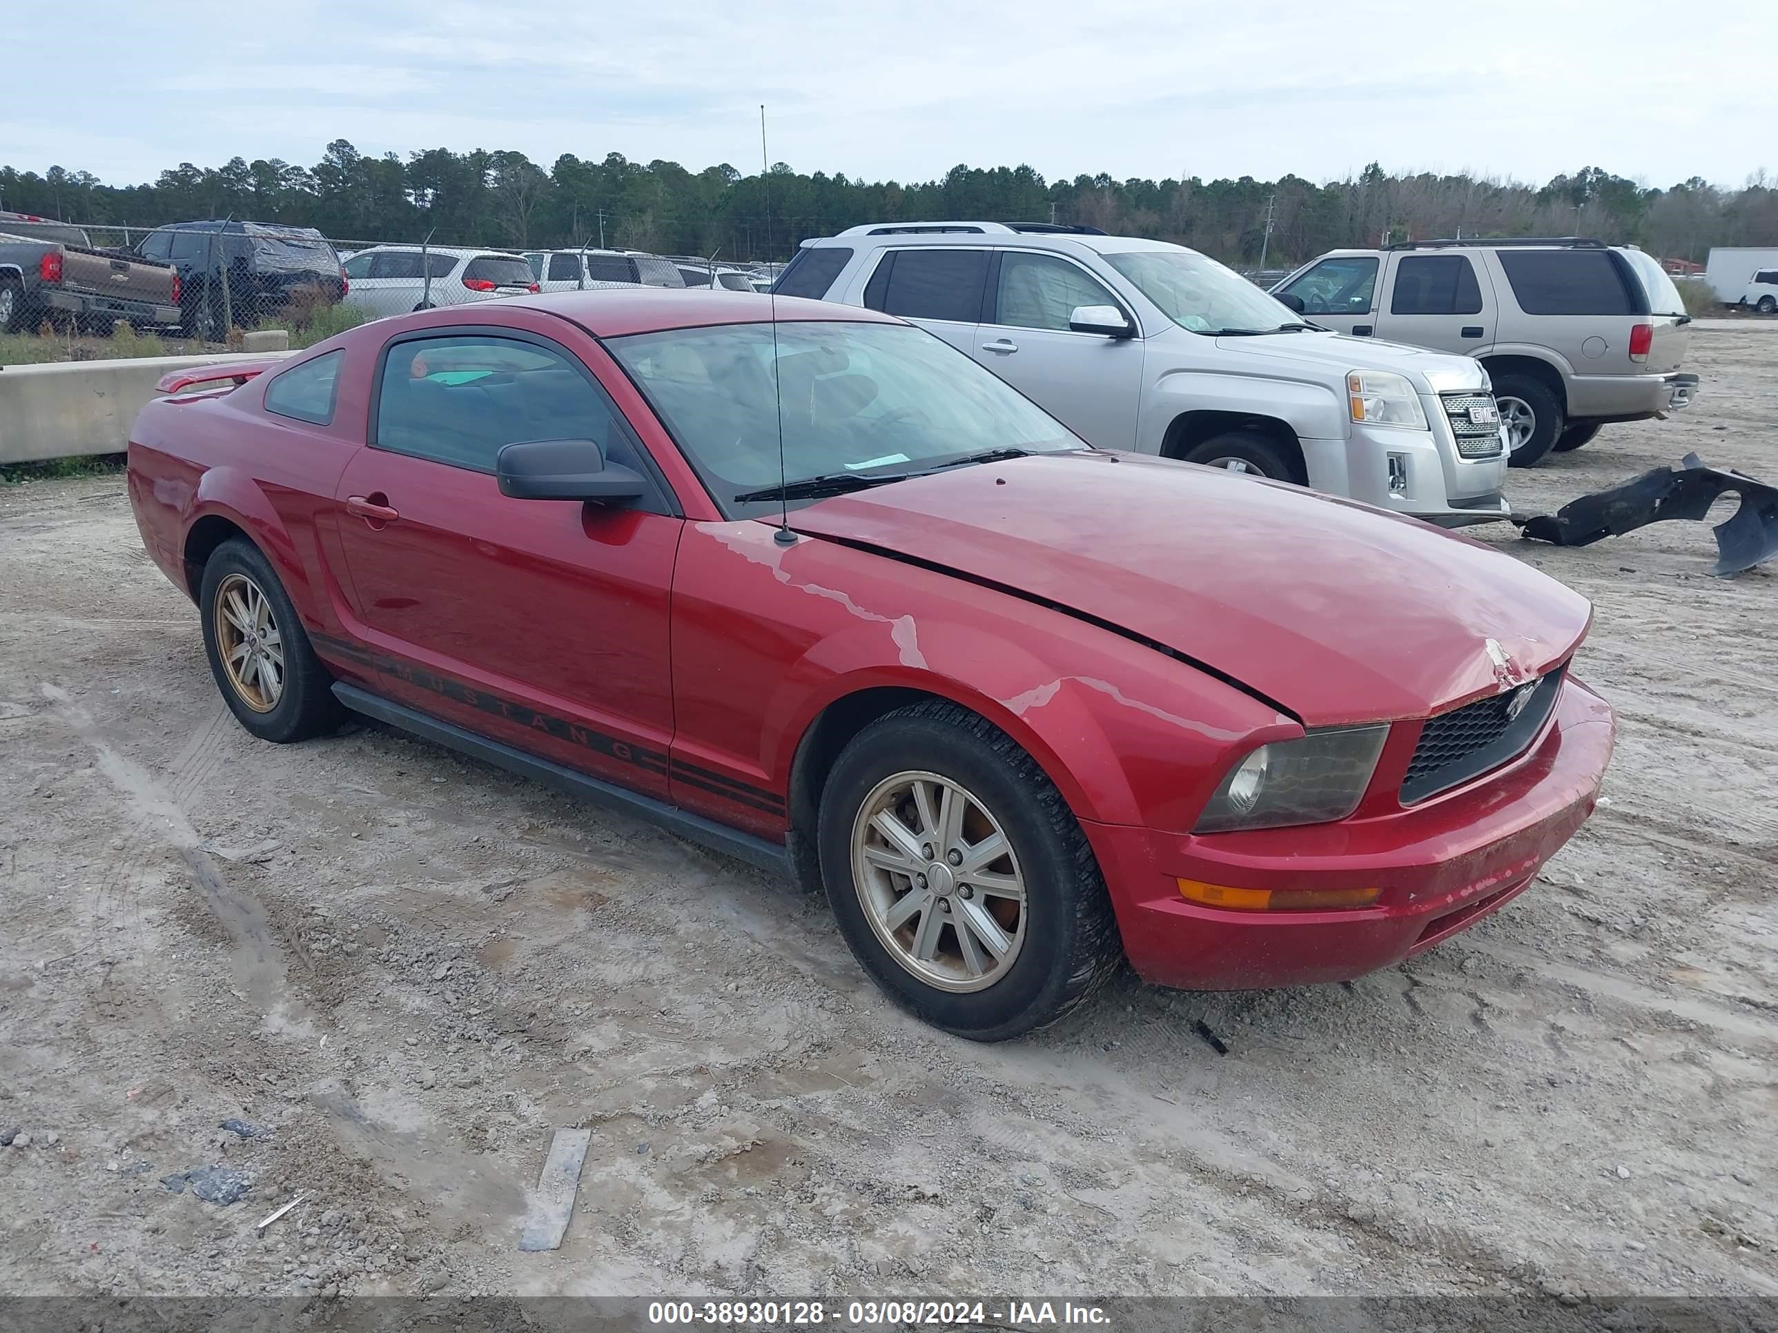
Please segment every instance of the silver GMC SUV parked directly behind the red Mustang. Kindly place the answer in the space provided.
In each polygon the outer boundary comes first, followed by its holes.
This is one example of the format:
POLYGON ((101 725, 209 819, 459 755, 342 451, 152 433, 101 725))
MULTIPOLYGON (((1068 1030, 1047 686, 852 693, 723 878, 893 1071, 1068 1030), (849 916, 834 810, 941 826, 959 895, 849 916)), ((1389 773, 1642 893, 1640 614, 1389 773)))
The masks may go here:
POLYGON ((912 320, 1083 439, 1431 519, 1508 514, 1488 377, 1303 323, 1182 245, 1040 222, 805 240, 773 291, 912 320))

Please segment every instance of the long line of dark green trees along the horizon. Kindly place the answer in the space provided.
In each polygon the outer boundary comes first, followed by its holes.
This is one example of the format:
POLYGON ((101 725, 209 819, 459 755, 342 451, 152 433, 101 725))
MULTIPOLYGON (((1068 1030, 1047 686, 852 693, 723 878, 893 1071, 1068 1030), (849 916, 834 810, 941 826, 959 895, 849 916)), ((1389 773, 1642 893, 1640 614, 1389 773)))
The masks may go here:
POLYGON ((784 259, 805 236, 859 222, 987 219, 1067 222, 1173 240, 1252 268, 1284 268, 1339 245, 1431 236, 1597 236, 1662 258, 1702 261, 1712 245, 1778 245, 1778 188, 1760 172, 1739 188, 1691 178, 1643 187, 1586 167, 1545 185, 1467 174, 1389 174, 1380 165, 1316 185, 1277 181, 1045 181, 1031 167, 951 167, 900 185, 786 164, 741 174, 729 164, 603 160, 564 153, 548 171, 523 153, 436 148, 366 156, 338 139, 313 167, 277 158, 188 162, 151 185, 105 185, 85 171, 0 167, 0 208, 87 226, 151 227, 235 217, 318 227, 340 242, 578 247, 720 259, 784 259), (1268 226, 1269 222, 1269 226, 1268 226))

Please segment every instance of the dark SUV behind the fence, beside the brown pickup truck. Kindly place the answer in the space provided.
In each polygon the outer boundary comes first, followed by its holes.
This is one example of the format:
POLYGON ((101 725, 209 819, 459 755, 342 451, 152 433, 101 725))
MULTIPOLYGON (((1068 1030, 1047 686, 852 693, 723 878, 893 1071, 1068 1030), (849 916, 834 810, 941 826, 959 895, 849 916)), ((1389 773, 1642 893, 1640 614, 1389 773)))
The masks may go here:
POLYGON ((315 227, 172 222, 148 233, 135 249, 178 270, 180 323, 188 338, 220 341, 229 327, 251 329, 260 320, 331 306, 347 291, 340 256, 315 227))

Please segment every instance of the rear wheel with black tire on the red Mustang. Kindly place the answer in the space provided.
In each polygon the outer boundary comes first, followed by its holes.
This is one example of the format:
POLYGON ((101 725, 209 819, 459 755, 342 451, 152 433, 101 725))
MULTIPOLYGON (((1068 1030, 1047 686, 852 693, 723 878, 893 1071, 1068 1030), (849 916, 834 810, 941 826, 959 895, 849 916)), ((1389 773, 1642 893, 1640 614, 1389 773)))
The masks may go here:
POLYGON ((332 675, 309 647, 297 608, 256 546, 236 537, 210 555, 197 608, 210 674, 242 727, 261 741, 283 745, 331 732, 340 725, 345 709, 332 695, 332 675), (235 615, 222 613, 222 604, 233 606, 235 615), (263 615, 254 615, 260 608, 263 615), (252 663, 261 656, 254 651, 249 651, 240 663, 240 679, 226 665, 245 638, 242 611, 247 613, 247 622, 261 627, 260 642, 283 651, 281 670, 274 670, 276 688, 254 670, 252 663), (270 640, 263 629, 270 629, 270 640))

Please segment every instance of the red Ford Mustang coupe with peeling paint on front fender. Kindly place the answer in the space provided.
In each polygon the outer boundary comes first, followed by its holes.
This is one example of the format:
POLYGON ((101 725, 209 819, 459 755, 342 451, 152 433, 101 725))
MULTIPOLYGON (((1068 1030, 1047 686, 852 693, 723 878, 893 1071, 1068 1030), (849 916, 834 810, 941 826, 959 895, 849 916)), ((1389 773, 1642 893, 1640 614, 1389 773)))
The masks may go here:
POLYGON ((247 730, 352 709, 821 885, 962 1036, 1120 958, 1396 963, 1520 892, 1611 755, 1568 588, 1088 448, 871 311, 562 293, 212 373, 137 419, 130 499, 247 730))

